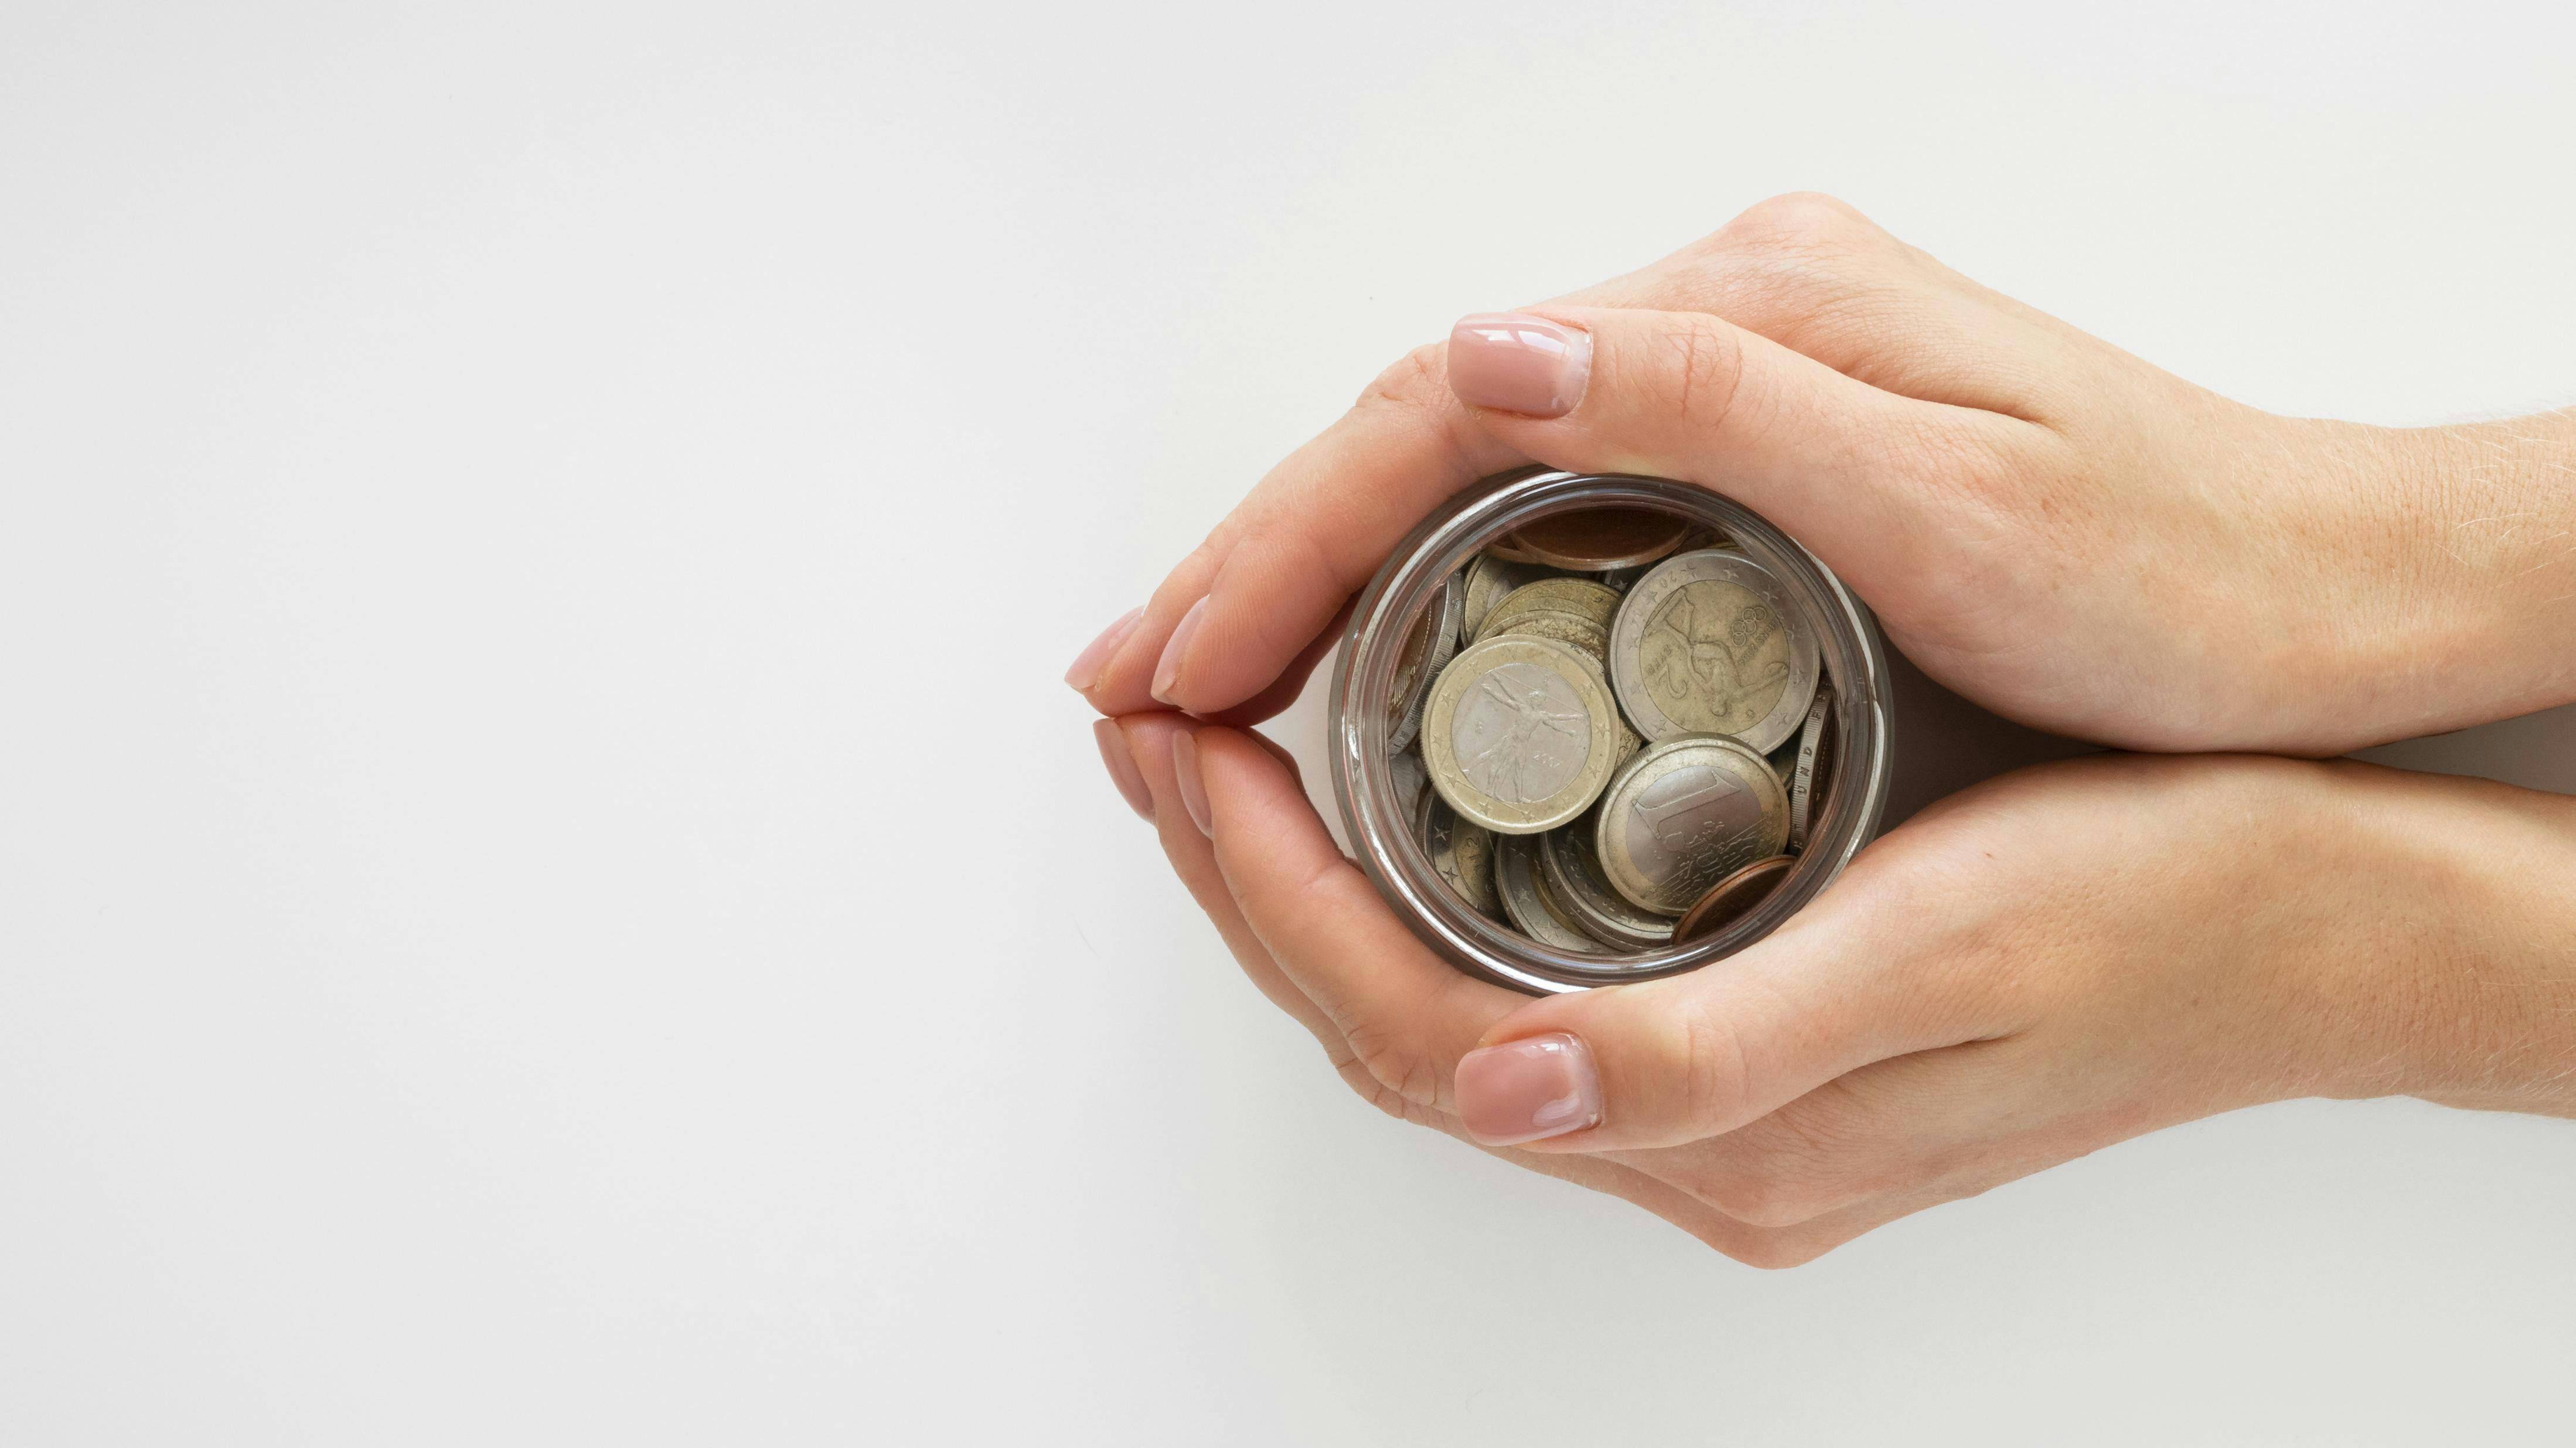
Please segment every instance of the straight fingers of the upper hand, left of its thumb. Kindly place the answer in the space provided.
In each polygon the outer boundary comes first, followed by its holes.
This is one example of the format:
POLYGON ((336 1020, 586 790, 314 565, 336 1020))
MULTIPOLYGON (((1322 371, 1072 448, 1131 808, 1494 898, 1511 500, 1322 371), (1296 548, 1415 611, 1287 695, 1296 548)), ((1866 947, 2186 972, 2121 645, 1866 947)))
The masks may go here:
POLYGON ((1419 348, 1270 469, 1066 683, 1103 714, 1236 709, 1319 639, 1425 513, 1522 461, 1468 420, 1443 348, 1419 348))

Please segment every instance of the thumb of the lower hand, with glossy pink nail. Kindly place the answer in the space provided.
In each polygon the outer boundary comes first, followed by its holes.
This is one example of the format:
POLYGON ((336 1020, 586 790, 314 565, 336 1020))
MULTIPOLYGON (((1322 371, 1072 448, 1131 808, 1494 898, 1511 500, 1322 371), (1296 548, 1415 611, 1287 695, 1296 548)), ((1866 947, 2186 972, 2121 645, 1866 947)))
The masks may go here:
POLYGON ((1963 907, 1940 876, 1868 866, 1703 971, 1522 1005, 1458 1064, 1468 1131, 1535 1152, 1674 1147, 1873 1062, 2027 1025, 2009 982, 1950 940, 1963 907))

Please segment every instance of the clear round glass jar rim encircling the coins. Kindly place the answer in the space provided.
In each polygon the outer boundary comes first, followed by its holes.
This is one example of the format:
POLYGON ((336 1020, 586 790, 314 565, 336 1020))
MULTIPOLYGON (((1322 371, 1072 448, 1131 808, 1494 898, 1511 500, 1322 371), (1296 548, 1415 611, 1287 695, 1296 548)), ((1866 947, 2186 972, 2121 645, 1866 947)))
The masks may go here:
POLYGON ((1728 497, 1685 482, 1525 469, 1484 479, 1422 520, 1352 605, 1332 675, 1332 794, 1360 868, 1414 935, 1463 971, 1533 995, 1669 976, 1721 961, 1770 935, 1834 884, 1878 835, 1891 776, 1891 685, 1878 621, 1842 580, 1788 533, 1728 497), (1806 850, 1788 879, 1726 930, 1643 953, 1577 953, 1530 940, 1458 899, 1414 837, 1391 768, 1391 696, 1399 654, 1445 580, 1486 544, 1553 513, 1646 508, 1716 528, 1777 577, 1816 629, 1824 680, 1834 688, 1834 770, 1806 850))

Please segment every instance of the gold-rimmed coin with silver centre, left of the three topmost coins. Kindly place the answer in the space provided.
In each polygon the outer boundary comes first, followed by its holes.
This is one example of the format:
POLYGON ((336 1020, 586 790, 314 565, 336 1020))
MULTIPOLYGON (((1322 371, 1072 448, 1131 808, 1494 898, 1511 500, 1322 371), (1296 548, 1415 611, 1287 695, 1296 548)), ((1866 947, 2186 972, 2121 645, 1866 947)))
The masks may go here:
POLYGON ((1440 672, 1422 714, 1422 763, 1466 819, 1538 835, 1600 799, 1618 734, 1618 706, 1579 652, 1504 634, 1440 672))

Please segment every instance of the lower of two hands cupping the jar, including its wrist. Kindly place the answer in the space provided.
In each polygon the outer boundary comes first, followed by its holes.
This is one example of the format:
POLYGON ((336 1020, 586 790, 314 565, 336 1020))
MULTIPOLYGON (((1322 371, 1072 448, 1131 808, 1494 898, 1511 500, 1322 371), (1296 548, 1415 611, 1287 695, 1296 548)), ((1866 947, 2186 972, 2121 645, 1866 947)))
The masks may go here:
POLYGON ((1414 940, 1255 734, 1097 729, 1244 971, 1360 1095, 1747 1262, 2264 1100, 2576 1116, 2568 799, 2352 763, 2043 765, 1878 840, 1739 956, 1528 1000, 1414 940))

